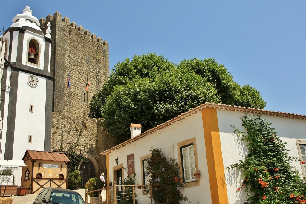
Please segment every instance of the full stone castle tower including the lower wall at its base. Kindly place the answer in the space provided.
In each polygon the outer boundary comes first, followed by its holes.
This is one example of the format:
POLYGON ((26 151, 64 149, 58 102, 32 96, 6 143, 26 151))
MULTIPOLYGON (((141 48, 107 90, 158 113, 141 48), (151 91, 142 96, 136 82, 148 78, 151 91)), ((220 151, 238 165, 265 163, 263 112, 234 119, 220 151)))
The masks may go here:
POLYGON ((101 128, 101 119, 88 118, 87 98, 102 89, 109 75, 108 43, 58 12, 39 20, 42 31, 50 23, 52 36, 50 74, 54 76, 51 150, 84 150, 82 186, 87 180, 106 173, 106 162, 99 155, 114 146, 101 128), (67 87, 68 74, 70 87, 67 87), (85 90, 89 82, 88 92, 85 90))

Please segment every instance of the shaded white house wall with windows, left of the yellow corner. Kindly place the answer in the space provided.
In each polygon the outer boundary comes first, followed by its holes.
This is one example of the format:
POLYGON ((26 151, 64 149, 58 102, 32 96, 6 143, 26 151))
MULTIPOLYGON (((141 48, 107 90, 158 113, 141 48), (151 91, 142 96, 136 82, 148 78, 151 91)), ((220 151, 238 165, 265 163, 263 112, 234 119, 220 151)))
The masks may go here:
MULTIPOLYGON (((118 157, 120 165, 123 163, 124 167, 127 167, 127 155, 134 153, 135 159, 135 173, 136 183, 137 181, 141 184, 142 169, 140 157, 150 154, 151 147, 161 148, 161 151, 168 157, 178 159, 180 156, 177 151, 177 143, 185 141, 187 139, 196 137, 196 147, 198 154, 199 170, 201 172, 200 186, 188 187, 182 190, 182 194, 185 197, 185 201, 180 203, 211 203, 211 193, 208 177, 206 150, 204 142, 203 124, 201 113, 196 113, 192 116, 187 117, 184 120, 176 122, 170 126, 165 127, 161 131, 157 131, 148 135, 140 140, 134 141, 133 143, 122 147, 115 152, 110 153, 110 172, 108 177, 110 182, 113 182, 113 166, 116 166, 115 159, 118 157), (199 193, 201 192, 201 193, 199 193)), ((127 176, 127 171, 124 171, 124 177, 127 176)), ((137 190, 136 190, 137 191, 137 190)), ((142 196, 140 194, 137 194, 142 196)), ((137 197, 136 197, 137 198, 137 197)), ((144 198, 144 197, 138 197, 144 198)), ((148 203, 149 200, 138 200, 138 203, 148 203)))

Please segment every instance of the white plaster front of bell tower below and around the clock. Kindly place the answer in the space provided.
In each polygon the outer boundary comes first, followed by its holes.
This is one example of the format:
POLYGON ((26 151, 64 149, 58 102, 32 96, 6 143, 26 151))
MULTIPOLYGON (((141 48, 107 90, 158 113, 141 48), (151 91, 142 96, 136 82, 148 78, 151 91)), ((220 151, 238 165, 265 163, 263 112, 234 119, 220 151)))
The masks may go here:
POLYGON ((30 87, 28 76, 19 72, 13 160, 21 160, 27 149, 44 150, 46 78, 37 76, 38 86, 30 87), (33 113, 29 112, 30 104, 34 106, 33 113), (32 143, 28 143, 28 135, 33 135, 32 143))

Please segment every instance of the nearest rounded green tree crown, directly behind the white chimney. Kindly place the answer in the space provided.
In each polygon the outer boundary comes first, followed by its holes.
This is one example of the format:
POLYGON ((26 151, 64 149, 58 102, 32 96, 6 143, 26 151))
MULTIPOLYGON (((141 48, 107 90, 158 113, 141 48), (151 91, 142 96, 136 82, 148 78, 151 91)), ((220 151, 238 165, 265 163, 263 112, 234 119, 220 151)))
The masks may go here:
POLYGON ((103 126, 123 142, 130 138, 131 123, 140 123, 146 131, 206 101, 221 102, 210 83, 187 69, 171 67, 115 86, 102 110, 103 126))

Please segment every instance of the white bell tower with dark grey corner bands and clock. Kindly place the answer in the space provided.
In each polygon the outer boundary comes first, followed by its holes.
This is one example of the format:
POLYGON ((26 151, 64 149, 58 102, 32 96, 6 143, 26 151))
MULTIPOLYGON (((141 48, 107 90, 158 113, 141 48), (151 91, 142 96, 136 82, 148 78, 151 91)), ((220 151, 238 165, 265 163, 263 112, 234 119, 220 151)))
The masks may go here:
MULTIPOLYGON (((50 24, 45 35, 28 6, 12 21, 0 36, 6 61, 1 69, 0 163, 22 160, 27 149, 50 151, 51 147, 50 24)), ((18 171, 14 175, 20 185, 21 169, 18 171)))

